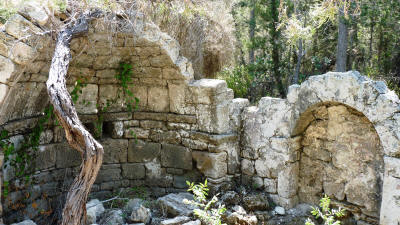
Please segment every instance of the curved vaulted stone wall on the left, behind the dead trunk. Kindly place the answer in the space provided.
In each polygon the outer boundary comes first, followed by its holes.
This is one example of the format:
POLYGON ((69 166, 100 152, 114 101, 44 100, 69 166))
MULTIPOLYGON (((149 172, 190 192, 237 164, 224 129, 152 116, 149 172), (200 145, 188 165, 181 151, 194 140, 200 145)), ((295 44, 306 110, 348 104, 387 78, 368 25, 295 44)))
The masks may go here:
MULTIPOLYGON (((16 14, 0 32, 0 63, 5 68, 0 76, 0 129, 10 132, 16 147, 49 105, 45 82, 55 40, 37 34, 50 26, 47 20, 38 21, 16 14), (37 32, 25 39, 32 31, 37 32)), ((85 83, 75 107, 92 133, 103 117, 104 163, 91 196, 104 199, 137 186, 161 195, 186 190, 187 180, 205 178, 215 188, 229 185, 239 175, 237 135, 229 126, 234 119, 229 117, 232 90, 224 81, 194 80, 177 41, 141 20, 139 13, 131 21, 115 26, 94 20, 88 35, 71 43, 68 89, 72 91, 77 79, 85 83), (134 112, 124 104, 120 81, 114 77, 120 62, 133 66, 129 88, 139 99, 134 112), (100 114, 108 100, 112 105, 100 114)), ((3 171, 9 183, 3 201, 6 222, 29 217, 43 223, 41 219, 54 216, 80 162, 63 129, 55 121, 46 123, 32 162, 32 184, 24 186, 12 167, 3 171)))

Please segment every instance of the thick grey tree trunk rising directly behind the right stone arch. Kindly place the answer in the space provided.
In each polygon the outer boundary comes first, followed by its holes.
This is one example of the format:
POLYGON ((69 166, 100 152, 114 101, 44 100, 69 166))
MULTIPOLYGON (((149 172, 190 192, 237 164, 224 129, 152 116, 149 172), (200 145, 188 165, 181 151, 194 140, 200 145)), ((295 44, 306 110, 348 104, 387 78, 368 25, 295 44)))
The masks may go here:
POLYGON ((346 62, 347 62, 347 36, 348 36, 348 28, 344 18, 344 3, 339 6, 339 14, 338 14, 338 44, 337 44, 337 52, 336 52, 336 71, 337 72, 345 72, 346 71, 346 62))

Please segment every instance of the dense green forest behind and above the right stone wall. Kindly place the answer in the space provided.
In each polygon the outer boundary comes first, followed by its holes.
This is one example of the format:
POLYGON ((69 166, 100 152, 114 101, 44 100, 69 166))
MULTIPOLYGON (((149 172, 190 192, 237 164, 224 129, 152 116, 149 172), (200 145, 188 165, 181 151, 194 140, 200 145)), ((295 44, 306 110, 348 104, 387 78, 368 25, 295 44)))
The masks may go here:
POLYGON ((220 73, 236 97, 285 97, 311 75, 358 70, 400 86, 400 1, 239 0, 234 66, 220 73))

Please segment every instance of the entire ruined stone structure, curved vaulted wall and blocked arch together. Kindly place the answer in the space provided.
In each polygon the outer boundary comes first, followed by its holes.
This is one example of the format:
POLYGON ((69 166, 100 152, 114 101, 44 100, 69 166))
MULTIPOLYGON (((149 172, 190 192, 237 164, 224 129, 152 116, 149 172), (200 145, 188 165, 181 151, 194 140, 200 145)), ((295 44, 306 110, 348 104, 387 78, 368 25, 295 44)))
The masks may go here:
MULTIPOLYGON (((17 14, 0 32, 0 129, 16 146, 49 105, 55 41, 37 16, 17 14)), ((177 41, 140 15, 134 21, 110 32, 112 24, 94 20, 71 45, 69 88, 77 79, 87 84, 76 103, 80 118, 96 132, 102 117, 105 158, 93 198, 133 186, 160 196, 207 178, 215 192, 250 185, 286 209, 327 194, 360 224, 400 223, 400 101, 385 83, 354 71, 327 73, 291 86, 287 99, 250 106, 225 81, 195 80, 177 41), (118 96, 120 62, 134 68, 134 112, 118 96), (100 112, 110 99, 116 104, 100 112)), ((33 184, 20 185, 12 167, 2 171, 10 188, 0 210, 5 221, 60 207, 80 161, 49 121, 32 160, 33 184)))

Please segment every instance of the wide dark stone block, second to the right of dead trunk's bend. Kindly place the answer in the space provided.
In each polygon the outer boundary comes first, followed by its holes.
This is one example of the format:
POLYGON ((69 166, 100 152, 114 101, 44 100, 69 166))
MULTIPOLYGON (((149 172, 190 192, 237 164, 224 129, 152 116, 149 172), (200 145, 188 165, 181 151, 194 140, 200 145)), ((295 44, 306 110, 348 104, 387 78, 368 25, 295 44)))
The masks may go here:
POLYGON ((160 156, 161 144, 129 140, 128 162, 151 162, 160 156))

